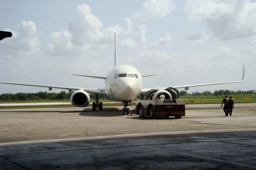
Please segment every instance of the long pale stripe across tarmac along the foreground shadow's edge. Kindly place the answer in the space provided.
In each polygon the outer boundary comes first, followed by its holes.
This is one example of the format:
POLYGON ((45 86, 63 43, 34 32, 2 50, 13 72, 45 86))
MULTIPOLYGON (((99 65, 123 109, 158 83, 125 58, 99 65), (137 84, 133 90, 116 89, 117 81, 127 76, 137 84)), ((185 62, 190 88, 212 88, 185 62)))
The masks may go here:
POLYGON ((196 130, 196 131, 177 131, 177 132, 151 132, 151 133, 139 133, 139 134, 116 134, 109 136, 92 136, 83 138, 63 138, 63 139, 46 139, 46 140, 28 140, 20 142, 3 142, 0 146, 12 145, 12 144, 33 144, 33 143, 46 143, 46 142, 65 142, 75 140, 95 140, 105 138, 122 138, 122 137, 135 137, 135 136, 152 136, 152 135, 164 135, 164 134, 190 134, 190 133, 210 133, 210 132, 234 132, 234 131, 253 131, 256 128, 246 129, 220 129, 220 130, 196 130))

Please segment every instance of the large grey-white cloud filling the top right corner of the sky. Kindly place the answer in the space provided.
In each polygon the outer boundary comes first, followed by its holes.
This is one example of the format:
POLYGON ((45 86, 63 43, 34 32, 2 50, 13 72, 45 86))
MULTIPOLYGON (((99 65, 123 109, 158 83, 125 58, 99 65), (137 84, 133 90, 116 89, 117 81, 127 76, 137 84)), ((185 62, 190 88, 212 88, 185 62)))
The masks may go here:
POLYGON ((248 38, 256 34, 256 2, 187 1, 185 11, 192 20, 202 20, 219 40, 248 38))

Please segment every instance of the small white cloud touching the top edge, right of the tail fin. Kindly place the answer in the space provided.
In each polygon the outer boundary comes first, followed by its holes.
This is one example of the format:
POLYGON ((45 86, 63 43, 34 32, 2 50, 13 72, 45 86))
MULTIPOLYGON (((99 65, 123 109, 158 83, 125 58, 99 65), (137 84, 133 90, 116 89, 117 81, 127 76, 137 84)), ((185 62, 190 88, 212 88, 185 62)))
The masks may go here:
POLYGON ((156 16, 164 17, 175 8, 175 4, 171 0, 148 0, 143 3, 140 11, 136 12, 132 18, 135 20, 150 20, 156 16))

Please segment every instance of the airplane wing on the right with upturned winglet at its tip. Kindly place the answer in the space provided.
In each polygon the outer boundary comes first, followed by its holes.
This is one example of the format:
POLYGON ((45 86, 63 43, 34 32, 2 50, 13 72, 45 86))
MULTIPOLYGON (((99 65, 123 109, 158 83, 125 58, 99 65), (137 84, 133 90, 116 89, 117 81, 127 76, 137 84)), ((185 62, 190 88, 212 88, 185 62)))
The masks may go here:
MULTIPOLYGON (((180 86, 170 86, 175 89, 180 89, 180 88, 185 88, 185 90, 188 90, 189 87, 198 87, 198 86, 206 86, 206 85, 218 85, 218 84, 227 84, 227 83, 239 83, 244 81, 244 67, 242 71, 242 79, 239 81, 226 81, 226 82, 219 82, 219 83, 204 83, 204 84, 196 84, 196 85, 180 85, 180 86)), ((142 89, 141 93, 144 94, 148 92, 150 89, 158 89, 158 90, 164 90, 168 87, 153 87, 153 88, 147 88, 147 89, 142 89)))

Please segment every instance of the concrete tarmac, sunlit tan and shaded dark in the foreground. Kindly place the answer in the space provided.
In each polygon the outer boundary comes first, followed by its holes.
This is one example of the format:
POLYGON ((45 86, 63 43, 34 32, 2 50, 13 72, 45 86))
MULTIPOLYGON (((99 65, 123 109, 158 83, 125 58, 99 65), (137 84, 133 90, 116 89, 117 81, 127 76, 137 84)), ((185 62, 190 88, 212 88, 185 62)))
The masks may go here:
POLYGON ((256 169, 256 104, 231 117, 186 105, 182 119, 121 109, 1 109, 0 169, 256 169))

